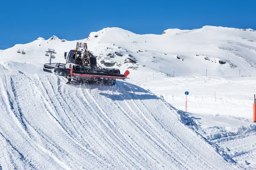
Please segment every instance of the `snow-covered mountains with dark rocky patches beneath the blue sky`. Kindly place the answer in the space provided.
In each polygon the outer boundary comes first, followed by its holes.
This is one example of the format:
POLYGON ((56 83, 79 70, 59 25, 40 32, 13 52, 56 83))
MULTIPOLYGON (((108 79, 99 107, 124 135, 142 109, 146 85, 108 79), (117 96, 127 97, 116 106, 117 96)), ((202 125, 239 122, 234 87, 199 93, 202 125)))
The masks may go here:
MULTIPOLYGON (((122 71, 128 68, 134 73, 136 70, 145 74, 159 72, 159 77, 164 77, 160 72, 169 76, 237 77, 239 71, 240 76, 256 75, 256 31, 251 29, 204 26, 193 30, 168 29, 160 35, 139 35, 121 28, 104 28, 77 41, 87 42, 102 66, 122 71)), ((44 64, 49 62, 45 51, 51 48, 57 52, 52 62, 65 62, 64 52, 75 48, 77 41, 60 40, 56 36, 48 40, 38 38, 0 52, 0 59, 44 64), (26 54, 16 53, 19 49, 26 54)))

